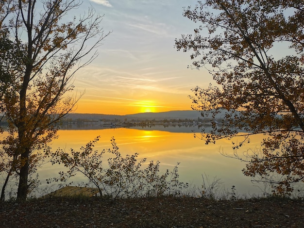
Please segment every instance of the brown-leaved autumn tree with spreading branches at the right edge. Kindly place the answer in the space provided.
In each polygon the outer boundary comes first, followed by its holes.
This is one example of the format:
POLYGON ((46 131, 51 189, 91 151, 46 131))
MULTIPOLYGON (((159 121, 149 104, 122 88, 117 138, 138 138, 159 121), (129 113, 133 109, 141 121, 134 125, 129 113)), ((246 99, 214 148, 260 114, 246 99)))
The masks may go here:
POLYGON ((291 183, 304 180, 304 2, 205 0, 184 16, 199 25, 176 39, 176 48, 192 51, 193 67, 206 67, 217 82, 193 89, 192 108, 223 116, 203 138, 208 144, 242 135, 237 149, 264 134, 243 172, 289 194, 291 183))

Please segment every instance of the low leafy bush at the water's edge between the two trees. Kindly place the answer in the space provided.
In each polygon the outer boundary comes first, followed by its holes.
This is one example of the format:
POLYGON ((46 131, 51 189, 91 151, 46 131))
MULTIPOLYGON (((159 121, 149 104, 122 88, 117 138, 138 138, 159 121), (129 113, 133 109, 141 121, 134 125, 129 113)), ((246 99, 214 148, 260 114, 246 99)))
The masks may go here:
POLYGON ((57 149, 48 152, 51 163, 64 164, 68 171, 60 171, 59 177, 51 178, 51 181, 67 181, 76 174, 82 174, 89 179, 86 184, 98 188, 101 196, 111 195, 117 197, 143 197, 160 195, 180 195, 181 190, 188 184, 179 181, 178 164, 173 170, 167 169, 160 173, 160 162, 151 161, 146 168, 146 158, 137 161, 138 154, 123 157, 118 151, 114 138, 111 140, 112 148, 102 151, 94 150, 94 145, 99 137, 81 147, 80 151, 70 149, 65 152, 57 149), (103 165, 103 155, 108 153, 110 158, 103 165))

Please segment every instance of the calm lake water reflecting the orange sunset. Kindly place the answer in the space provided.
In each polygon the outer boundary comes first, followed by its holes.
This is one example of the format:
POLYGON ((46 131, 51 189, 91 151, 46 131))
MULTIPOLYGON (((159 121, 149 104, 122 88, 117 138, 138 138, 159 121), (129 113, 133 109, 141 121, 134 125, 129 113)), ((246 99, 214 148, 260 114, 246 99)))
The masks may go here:
MULTIPOLYGON (((210 182, 214 178, 220 179, 223 182, 222 188, 228 191, 234 185, 239 195, 261 194, 261 190, 251 182, 251 178, 242 174, 241 170, 245 167, 245 163, 220 154, 220 151, 233 154, 231 141, 220 140, 216 145, 205 145, 204 141, 194 138, 190 129, 183 130, 178 127, 166 129, 163 126, 136 128, 138 129, 59 130, 59 138, 52 142, 51 147, 65 148, 66 151, 69 148, 79 149, 96 136, 101 136, 95 149, 102 150, 111 147, 110 140, 114 136, 122 155, 139 153, 139 158, 147 158, 147 161, 158 160, 161 162, 162 170, 172 169, 179 162, 180 180, 183 182, 200 187, 203 183, 203 174, 208 176, 210 182)), ((260 142, 261 138, 255 136, 251 143, 239 152, 259 147, 260 142)), ((45 180, 57 176, 60 169, 61 166, 52 166, 50 163, 43 165, 38 170, 42 187, 47 186, 45 180)), ((85 182, 86 179, 79 176, 76 181, 85 182)))

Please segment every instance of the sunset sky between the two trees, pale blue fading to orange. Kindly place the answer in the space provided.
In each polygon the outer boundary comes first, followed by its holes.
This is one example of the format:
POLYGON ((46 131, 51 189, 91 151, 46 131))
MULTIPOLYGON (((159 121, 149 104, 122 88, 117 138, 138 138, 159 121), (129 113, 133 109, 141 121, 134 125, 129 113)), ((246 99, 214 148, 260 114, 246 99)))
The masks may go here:
POLYGON ((174 48, 197 26, 183 16, 197 0, 84 0, 103 16, 99 56, 75 75, 75 113, 135 114, 191 110, 191 88, 207 87, 206 70, 187 68, 190 52, 174 48))

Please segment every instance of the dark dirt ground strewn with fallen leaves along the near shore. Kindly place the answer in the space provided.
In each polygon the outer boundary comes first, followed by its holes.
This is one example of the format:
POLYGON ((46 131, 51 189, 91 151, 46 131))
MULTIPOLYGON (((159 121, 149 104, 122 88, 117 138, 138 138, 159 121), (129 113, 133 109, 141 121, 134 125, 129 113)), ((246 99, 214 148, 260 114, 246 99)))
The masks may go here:
POLYGON ((0 202, 0 224, 3 228, 302 228, 304 201, 52 197, 0 202))

